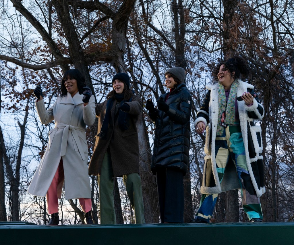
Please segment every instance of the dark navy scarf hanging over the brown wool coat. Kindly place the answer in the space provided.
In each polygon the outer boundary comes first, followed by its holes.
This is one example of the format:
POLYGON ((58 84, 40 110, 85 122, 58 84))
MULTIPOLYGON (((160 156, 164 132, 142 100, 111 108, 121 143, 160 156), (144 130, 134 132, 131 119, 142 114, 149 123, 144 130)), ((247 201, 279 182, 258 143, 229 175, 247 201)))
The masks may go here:
MULTIPOLYGON (((120 102, 120 105, 122 105, 123 103, 127 102, 126 100, 123 100, 123 96, 124 96, 123 93, 115 94, 114 97, 110 98, 107 101, 106 112, 105 112, 105 117, 103 119, 102 127, 100 130, 100 133, 97 134, 97 136, 99 136, 101 139, 106 138, 109 120, 111 120, 111 108, 113 106, 114 99, 116 99, 118 102, 120 102)), ((129 99, 129 101, 131 101, 131 99, 129 99)), ((121 131, 125 131, 126 129, 129 128, 130 126, 129 121, 130 121, 130 115, 124 111, 118 110, 118 126, 121 129, 121 131)))

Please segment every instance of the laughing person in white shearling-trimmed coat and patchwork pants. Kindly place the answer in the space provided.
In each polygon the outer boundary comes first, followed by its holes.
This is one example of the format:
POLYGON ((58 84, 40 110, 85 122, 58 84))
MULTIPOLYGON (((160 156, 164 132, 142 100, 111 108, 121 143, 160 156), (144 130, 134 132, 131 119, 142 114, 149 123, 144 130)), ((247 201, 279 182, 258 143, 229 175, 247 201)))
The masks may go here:
POLYGON ((191 223, 209 222, 218 193, 241 189, 243 209, 252 222, 262 222, 259 197, 265 192, 261 127, 255 124, 264 115, 254 86, 240 80, 248 67, 240 57, 220 63, 208 85, 194 126, 206 129, 202 198, 191 223))

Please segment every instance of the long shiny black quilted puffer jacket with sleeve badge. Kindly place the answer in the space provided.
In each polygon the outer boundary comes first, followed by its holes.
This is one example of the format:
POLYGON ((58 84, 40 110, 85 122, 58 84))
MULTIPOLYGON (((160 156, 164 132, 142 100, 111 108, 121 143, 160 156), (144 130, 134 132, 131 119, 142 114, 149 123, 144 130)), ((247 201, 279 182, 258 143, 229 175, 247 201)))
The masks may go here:
MULTIPOLYGON (((168 94, 161 95, 158 100, 163 98, 166 101, 168 94)), ((192 106, 186 84, 179 84, 166 104, 169 105, 167 112, 156 110, 149 113, 151 119, 156 121, 151 171, 156 174, 157 168, 168 167, 178 169, 185 175, 189 162, 192 106)))

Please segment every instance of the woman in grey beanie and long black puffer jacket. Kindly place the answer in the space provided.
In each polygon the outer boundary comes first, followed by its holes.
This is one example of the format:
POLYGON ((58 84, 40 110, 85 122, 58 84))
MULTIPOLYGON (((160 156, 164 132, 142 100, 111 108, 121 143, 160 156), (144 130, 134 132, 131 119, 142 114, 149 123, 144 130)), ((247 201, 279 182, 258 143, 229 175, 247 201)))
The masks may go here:
POLYGON ((161 223, 183 223, 183 176, 187 172, 190 147, 191 94, 185 70, 166 71, 170 91, 159 97, 158 109, 151 100, 146 109, 156 122, 151 171, 156 175, 161 223))

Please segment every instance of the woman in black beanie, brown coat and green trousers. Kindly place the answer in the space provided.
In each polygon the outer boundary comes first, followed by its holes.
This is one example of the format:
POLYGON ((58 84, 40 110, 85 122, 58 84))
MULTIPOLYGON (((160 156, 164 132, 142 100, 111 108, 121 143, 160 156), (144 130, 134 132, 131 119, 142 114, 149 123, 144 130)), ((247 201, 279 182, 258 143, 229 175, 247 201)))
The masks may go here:
POLYGON ((142 99, 129 89, 126 73, 112 79, 113 90, 106 101, 96 104, 98 134, 89 165, 89 174, 97 175, 101 224, 116 224, 113 201, 113 177, 123 177, 123 183, 135 211, 136 224, 145 223, 137 120, 142 99))

